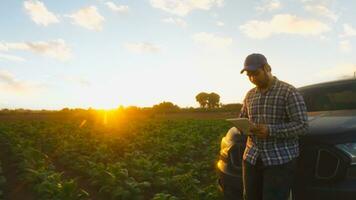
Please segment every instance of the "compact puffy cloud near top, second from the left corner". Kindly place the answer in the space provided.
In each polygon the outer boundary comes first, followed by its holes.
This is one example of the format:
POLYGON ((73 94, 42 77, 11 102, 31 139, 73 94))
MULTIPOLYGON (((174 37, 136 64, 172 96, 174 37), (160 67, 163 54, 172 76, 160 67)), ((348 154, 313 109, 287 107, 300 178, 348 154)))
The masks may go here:
POLYGON ((73 19, 73 24, 82 26, 89 30, 101 31, 104 17, 100 15, 95 6, 89 6, 69 15, 73 19))

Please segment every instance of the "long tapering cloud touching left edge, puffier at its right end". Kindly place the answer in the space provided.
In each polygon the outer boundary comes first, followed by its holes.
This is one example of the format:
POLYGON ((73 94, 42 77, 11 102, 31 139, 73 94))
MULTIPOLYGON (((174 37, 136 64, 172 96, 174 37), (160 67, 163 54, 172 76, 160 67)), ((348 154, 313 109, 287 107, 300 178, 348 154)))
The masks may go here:
POLYGON ((62 39, 49 42, 24 42, 24 43, 0 43, 0 50, 24 50, 36 54, 48 56, 61 61, 67 61, 71 58, 71 49, 62 39))

